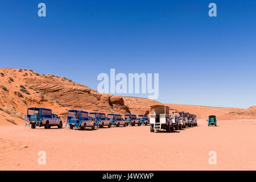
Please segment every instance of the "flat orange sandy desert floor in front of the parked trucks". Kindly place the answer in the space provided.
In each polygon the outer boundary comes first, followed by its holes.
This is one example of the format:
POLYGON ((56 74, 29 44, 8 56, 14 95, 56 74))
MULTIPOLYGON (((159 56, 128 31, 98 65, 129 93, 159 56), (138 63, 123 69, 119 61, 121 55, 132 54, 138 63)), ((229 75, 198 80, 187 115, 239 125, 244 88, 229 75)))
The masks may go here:
POLYGON ((150 133, 149 126, 0 126, 0 170, 256 170, 256 121, 217 124, 200 120, 174 133, 150 133), (46 152, 46 165, 38 164, 39 151, 46 152), (209 164, 209 151, 217 152, 216 165, 209 164))

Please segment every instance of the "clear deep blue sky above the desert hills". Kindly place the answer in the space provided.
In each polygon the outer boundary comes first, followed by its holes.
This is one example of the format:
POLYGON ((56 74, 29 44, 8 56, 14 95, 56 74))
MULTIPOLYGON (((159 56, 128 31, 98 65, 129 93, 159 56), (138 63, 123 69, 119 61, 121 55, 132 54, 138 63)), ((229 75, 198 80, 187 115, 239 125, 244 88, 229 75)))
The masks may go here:
MULTIPOLYGON (((0 67, 96 89, 99 73, 159 73, 158 101, 256 105, 256 1, 0 2, 0 67), (39 18, 38 4, 47 16, 39 18), (217 4, 217 17, 208 5, 217 4)), ((142 96, 143 94, 131 94, 142 96)))

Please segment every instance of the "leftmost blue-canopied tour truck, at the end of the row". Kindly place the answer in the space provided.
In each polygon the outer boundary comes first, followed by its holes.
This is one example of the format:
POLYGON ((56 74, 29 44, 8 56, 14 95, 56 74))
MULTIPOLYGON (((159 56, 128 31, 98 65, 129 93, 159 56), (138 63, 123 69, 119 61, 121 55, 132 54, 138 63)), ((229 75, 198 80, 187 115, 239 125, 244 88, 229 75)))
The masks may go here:
POLYGON ((63 123, 61 118, 57 114, 53 114, 51 109, 44 109, 39 107, 30 107, 27 109, 27 115, 25 115, 25 127, 28 126, 31 129, 44 126, 44 129, 50 129, 51 126, 57 126, 62 128, 63 123))

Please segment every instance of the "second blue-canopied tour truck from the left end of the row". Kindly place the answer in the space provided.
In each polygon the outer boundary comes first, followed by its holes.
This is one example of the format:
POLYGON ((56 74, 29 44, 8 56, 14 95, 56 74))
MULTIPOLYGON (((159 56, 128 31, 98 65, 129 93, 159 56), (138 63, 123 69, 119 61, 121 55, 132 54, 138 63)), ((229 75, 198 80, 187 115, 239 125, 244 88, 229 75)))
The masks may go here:
POLYGON ((87 111, 82 110, 69 110, 67 116, 67 123, 65 127, 69 129, 81 129, 85 130, 86 127, 91 127, 92 130, 95 129, 95 121, 89 117, 87 111))

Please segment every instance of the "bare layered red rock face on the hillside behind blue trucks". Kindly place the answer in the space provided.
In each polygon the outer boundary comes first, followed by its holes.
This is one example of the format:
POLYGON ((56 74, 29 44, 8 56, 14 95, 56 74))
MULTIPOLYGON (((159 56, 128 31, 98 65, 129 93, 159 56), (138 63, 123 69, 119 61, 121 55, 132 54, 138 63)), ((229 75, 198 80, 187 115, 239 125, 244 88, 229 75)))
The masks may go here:
POLYGON ((81 86, 74 82, 65 82, 59 78, 25 78, 27 85, 39 90, 43 95, 57 100, 72 109, 98 111, 104 113, 131 113, 121 96, 101 94, 97 90, 81 86))

